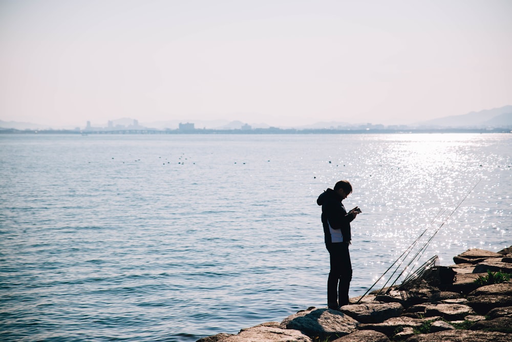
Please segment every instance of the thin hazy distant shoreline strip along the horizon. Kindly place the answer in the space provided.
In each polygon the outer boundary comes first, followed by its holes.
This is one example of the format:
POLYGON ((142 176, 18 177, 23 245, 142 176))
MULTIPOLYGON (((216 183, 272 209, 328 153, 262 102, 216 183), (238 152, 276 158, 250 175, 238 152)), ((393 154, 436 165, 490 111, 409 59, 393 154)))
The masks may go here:
POLYGON ((0 134, 73 134, 73 135, 89 135, 89 134, 413 134, 413 133, 512 133, 510 128, 493 128, 493 129, 364 129, 364 130, 337 130, 337 129, 279 129, 270 127, 268 129, 251 129, 251 130, 210 130, 210 129, 194 129, 194 130, 156 130, 156 129, 133 129, 133 130, 16 130, 2 129, 0 134))

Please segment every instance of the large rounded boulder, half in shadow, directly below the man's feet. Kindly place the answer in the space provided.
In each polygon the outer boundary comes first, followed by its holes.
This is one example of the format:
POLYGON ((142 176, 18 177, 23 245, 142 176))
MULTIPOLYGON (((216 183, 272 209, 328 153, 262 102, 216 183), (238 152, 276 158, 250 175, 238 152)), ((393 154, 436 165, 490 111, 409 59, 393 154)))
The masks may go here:
POLYGON ((311 309, 286 317, 281 325, 286 329, 300 330, 306 335, 320 339, 348 335, 356 330, 357 320, 331 309, 311 309))

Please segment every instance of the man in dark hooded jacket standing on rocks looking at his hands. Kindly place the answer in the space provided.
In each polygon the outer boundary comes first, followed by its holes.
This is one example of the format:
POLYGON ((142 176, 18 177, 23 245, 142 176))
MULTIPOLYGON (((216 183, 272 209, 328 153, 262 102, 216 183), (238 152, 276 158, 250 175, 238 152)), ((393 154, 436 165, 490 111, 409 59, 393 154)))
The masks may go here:
POLYGON ((334 185, 334 189, 328 188, 316 200, 316 203, 322 206, 325 245, 329 251, 331 265, 327 280, 327 306, 334 310, 349 304, 349 286, 352 280, 349 254, 350 222, 361 212, 358 207, 349 212, 345 210, 342 201, 350 193, 350 182, 339 181, 334 185))

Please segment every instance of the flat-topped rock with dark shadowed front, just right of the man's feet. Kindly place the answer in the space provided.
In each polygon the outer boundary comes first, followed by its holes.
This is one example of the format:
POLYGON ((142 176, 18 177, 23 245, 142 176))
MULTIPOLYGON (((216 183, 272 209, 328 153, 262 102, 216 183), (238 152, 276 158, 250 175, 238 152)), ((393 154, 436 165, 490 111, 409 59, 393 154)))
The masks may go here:
POLYGON ((345 305, 340 310, 361 323, 381 323, 388 318, 400 316, 403 307, 399 303, 369 303, 345 305))

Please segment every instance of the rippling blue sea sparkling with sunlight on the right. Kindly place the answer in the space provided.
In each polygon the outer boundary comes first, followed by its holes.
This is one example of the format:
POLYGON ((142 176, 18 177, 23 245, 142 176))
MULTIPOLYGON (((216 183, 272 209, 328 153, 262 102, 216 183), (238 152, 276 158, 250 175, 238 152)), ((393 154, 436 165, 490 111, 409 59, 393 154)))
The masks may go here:
POLYGON ((325 307, 338 180, 351 297, 512 245, 512 134, 2 134, 0 340, 190 342, 325 307))

